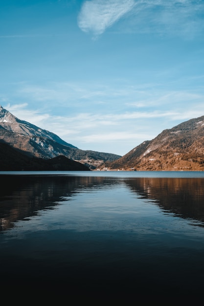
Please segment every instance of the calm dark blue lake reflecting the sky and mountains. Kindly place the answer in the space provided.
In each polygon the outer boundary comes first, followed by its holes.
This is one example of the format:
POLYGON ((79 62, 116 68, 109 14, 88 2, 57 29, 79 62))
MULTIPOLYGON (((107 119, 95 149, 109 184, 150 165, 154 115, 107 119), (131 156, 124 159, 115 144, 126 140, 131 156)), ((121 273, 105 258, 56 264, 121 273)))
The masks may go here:
POLYGON ((203 298, 203 172, 1 172, 0 181, 1 288, 203 298))

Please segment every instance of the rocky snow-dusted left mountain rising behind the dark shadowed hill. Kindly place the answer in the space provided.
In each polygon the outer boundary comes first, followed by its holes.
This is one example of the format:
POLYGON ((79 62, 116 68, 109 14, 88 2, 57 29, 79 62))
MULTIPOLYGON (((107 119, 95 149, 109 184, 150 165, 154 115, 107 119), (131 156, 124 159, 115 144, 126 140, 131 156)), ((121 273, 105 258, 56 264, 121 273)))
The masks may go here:
POLYGON ((30 157, 48 159, 65 155, 93 169, 105 161, 113 161, 121 157, 112 153, 80 150, 56 134, 18 119, 1 106, 0 141, 9 144, 14 149, 21 150, 30 157))

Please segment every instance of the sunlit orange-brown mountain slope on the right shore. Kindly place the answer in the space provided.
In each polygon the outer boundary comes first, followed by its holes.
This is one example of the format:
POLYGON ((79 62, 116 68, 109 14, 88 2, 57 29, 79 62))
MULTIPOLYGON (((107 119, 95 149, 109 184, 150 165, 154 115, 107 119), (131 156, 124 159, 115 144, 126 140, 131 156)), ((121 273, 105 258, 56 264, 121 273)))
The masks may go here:
POLYGON ((162 131, 121 158, 105 163, 104 167, 110 170, 204 171, 204 116, 162 131))

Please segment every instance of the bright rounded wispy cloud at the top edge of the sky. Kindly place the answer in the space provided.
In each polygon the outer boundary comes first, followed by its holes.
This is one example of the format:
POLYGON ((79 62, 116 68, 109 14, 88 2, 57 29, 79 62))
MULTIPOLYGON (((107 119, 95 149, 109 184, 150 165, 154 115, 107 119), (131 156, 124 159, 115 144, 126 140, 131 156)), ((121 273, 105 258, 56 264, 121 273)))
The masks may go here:
POLYGON ((85 1, 78 16, 78 26, 84 32, 100 35, 134 6, 134 0, 85 1))

